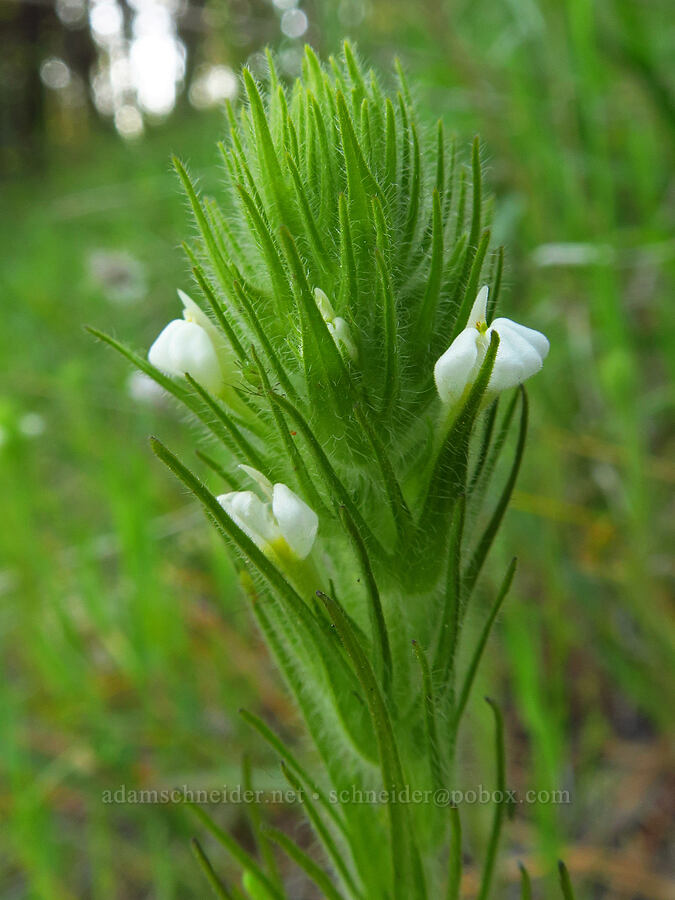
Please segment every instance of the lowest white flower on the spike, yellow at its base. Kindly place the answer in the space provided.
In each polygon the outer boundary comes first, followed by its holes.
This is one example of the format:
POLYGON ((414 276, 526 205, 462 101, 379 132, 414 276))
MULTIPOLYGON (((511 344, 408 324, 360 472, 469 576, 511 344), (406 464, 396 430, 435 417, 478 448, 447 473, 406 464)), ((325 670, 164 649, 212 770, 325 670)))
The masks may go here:
POLYGON ((304 500, 285 484, 272 484, 262 472, 240 466, 259 486, 265 499, 253 491, 221 494, 218 502, 228 516, 264 552, 291 551, 305 559, 316 540, 319 518, 304 500))

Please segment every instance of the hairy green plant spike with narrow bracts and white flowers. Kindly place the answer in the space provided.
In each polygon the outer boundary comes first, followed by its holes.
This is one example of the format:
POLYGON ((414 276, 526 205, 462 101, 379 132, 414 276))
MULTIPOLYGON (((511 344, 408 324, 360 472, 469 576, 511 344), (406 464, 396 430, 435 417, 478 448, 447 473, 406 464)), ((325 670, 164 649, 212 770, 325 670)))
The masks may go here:
MULTIPOLYGON (((521 462, 521 385, 548 341, 494 318, 502 252, 488 252, 478 141, 461 164, 398 74, 390 97, 348 44, 328 67, 307 48, 290 89, 271 57, 264 89, 244 70, 219 202, 175 161, 199 231, 186 246, 199 303, 180 293, 183 317, 148 361, 96 332, 219 448, 200 453, 224 483, 216 496, 153 440, 233 551, 316 748, 301 761, 244 713, 302 792, 323 854, 256 816, 256 858, 198 808, 242 869, 243 887, 226 887, 196 845, 224 897, 290 896, 273 843, 329 898, 459 896, 457 733, 515 561, 461 671, 458 647, 521 462), (477 517, 512 427, 506 482, 477 517), (378 802, 359 802, 372 791, 378 802)), ((498 799, 481 897, 505 809, 498 799)))

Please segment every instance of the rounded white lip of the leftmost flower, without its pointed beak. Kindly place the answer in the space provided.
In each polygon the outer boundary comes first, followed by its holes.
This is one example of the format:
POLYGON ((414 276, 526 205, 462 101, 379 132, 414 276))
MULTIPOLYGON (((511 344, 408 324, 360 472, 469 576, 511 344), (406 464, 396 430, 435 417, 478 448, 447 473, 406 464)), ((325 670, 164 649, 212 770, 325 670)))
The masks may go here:
POLYGON ((211 392, 222 386, 220 363, 211 338, 195 322, 169 322, 150 347, 148 359, 167 375, 183 376, 188 372, 211 392))

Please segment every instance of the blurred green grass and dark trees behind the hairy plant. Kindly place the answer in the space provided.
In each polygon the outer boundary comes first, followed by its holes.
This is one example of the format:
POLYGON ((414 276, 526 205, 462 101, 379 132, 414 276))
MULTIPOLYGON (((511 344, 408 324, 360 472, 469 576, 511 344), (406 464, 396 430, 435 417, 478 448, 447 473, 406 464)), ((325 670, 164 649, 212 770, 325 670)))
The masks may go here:
MULTIPOLYGON (((507 713, 509 783, 571 803, 517 810, 497 895, 520 859, 553 896, 563 856, 580 898, 673 896, 674 22, 666 0, 0 0, 3 898, 205 896, 188 814, 102 792, 220 788, 245 751, 275 778, 242 705, 300 734, 146 441, 190 459, 201 438, 82 325, 149 345, 190 288, 171 153, 217 198, 240 65, 263 77, 269 44, 294 77, 305 41, 345 36, 385 72, 401 58, 430 123, 481 135, 502 308, 551 339, 479 687, 507 713)), ((464 787, 494 777, 480 706, 464 787)), ((467 814, 467 897, 489 815, 467 814)))

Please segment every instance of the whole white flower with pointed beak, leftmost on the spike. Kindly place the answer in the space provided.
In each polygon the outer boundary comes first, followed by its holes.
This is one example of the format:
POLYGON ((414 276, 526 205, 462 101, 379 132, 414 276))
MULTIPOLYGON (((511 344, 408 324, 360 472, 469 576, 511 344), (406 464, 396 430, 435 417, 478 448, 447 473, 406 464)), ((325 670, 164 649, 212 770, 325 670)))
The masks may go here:
POLYGON ((148 359, 167 375, 187 372, 211 393, 223 388, 230 348, 209 317, 183 291, 183 318, 164 328, 148 352, 148 359))

